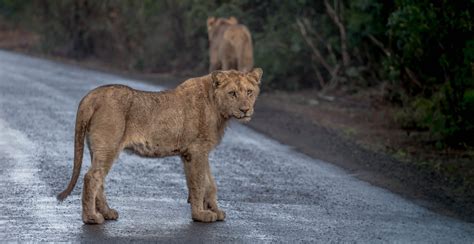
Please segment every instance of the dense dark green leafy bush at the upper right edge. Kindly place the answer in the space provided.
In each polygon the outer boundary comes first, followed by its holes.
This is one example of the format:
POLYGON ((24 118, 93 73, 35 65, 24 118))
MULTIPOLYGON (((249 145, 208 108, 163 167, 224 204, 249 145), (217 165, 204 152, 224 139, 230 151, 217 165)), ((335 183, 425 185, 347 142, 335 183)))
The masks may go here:
POLYGON ((472 144, 472 1, 396 1, 388 19, 389 59, 405 88, 404 123, 451 145, 472 144), (415 72, 416 71, 416 72, 415 72))

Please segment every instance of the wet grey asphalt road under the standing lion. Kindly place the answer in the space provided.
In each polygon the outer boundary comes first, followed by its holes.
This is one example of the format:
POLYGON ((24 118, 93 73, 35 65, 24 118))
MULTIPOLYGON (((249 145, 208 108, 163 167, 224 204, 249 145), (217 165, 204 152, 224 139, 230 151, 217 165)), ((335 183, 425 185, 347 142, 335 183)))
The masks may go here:
POLYGON ((0 240, 474 242, 474 224, 431 212, 238 123, 210 160, 226 221, 191 220, 177 157, 123 153, 106 185, 119 220, 84 225, 80 193, 90 165, 87 151, 72 195, 63 203, 55 195, 72 172, 78 102, 110 83, 162 89, 0 51, 0 240))

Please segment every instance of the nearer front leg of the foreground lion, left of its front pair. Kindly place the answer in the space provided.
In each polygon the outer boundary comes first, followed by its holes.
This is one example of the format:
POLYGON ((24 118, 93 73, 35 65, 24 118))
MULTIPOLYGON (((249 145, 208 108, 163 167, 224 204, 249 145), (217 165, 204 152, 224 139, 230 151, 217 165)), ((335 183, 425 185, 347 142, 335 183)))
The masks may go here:
POLYGON ((209 178, 207 172, 209 168, 208 155, 195 153, 186 157, 184 170, 189 190, 189 200, 191 202, 192 219, 200 222, 214 222, 217 220, 217 214, 207 208, 204 208, 204 197, 206 196, 209 178), (201 155, 200 155, 201 154, 201 155))

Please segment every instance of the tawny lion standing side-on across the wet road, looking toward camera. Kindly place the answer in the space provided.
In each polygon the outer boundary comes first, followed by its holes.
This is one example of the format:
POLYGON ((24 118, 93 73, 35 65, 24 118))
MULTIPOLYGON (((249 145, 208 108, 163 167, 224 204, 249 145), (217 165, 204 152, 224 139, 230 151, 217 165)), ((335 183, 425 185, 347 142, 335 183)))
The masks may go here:
POLYGON ((224 220, 225 212, 217 205, 209 153, 220 143, 231 118, 250 121, 262 74, 260 68, 214 71, 161 92, 124 85, 90 91, 77 110, 73 173, 58 200, 64 200, 76 185, 87 138, 92 163, 84 176, 84 223, 101 224, 118 218, 118 212, 107 204, 104 181, 123 150, 144 157, 180 156, 192 219, 224 220))

